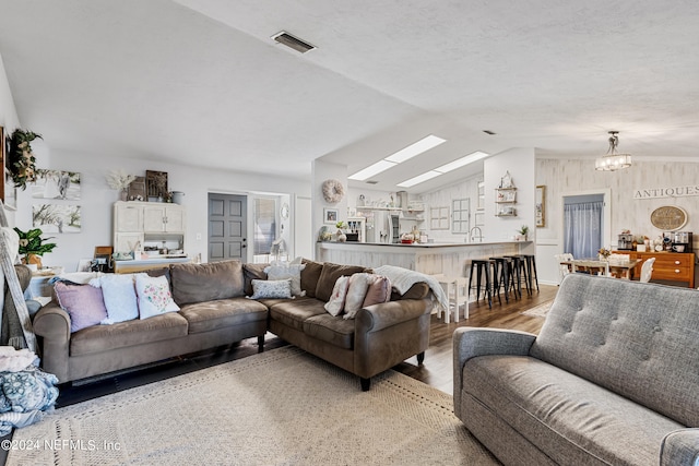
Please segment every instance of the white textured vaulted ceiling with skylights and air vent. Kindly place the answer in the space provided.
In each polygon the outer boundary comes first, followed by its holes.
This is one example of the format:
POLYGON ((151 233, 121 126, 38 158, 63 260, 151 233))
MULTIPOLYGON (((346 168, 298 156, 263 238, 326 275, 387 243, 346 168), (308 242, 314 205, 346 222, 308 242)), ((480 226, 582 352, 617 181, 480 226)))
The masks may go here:
POLYGON ((51 151, 310 179, 448 140, 372 178, 388 191, 474 151, 592 160, 609 130, 697 162, 697 50, 696 0, 0 0, 22 126, 51 151))

